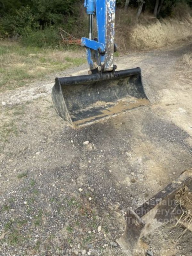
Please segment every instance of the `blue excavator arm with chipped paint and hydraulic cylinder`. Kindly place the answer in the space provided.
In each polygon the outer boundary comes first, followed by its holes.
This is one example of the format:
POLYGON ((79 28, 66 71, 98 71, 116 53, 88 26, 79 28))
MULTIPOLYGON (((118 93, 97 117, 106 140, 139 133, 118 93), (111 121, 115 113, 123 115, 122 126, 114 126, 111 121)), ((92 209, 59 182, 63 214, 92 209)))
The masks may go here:
POLYGON ((89 74, 113 71, 116 0, 85 0, 84 7, 89 15, 89 38, 81 39, 86 47, 89 74), (97 20, 97 38, 93 39, 93 16, 97 20))

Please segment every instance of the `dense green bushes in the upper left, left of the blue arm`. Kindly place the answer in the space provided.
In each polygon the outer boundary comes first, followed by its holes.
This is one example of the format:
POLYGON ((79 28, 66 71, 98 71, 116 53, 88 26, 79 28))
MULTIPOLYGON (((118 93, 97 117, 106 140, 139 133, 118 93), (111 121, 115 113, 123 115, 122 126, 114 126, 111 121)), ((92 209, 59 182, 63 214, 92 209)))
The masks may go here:
MULTIPOLYGON (((80 16, 79 5, 83 6, 80 1, 0 0, 0 37, 34 37, 36 29, 42 31, 52 26, 72 31, 80 16)), ((47 36, 45 31, 43 37, 47 36)))

